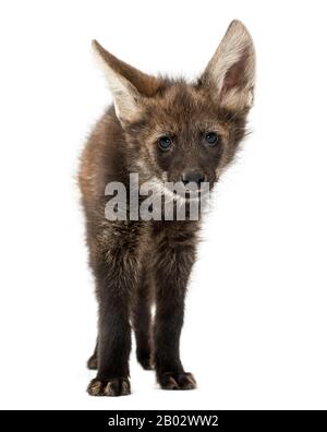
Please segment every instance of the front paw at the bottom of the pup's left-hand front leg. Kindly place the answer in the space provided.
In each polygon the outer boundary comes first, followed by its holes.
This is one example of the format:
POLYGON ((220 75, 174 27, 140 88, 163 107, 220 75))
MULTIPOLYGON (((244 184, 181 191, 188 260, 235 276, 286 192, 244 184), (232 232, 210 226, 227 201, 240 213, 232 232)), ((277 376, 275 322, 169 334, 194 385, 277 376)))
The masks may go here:
POLYGON ((126 377, 108 380, 94 379, 87 387, 90 396, 125 396, 131 394, 130 381, 126 377))

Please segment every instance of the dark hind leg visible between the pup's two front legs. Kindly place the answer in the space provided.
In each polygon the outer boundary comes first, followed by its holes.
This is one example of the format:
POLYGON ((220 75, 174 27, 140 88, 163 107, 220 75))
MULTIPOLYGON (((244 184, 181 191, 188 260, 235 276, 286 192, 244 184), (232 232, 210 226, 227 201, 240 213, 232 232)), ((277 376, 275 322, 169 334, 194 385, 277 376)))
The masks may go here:
POLYGON ((152 281, 146 269, 134 299, 132 322, 136 339, 136 358, 145 370, 153 367, 152 281))

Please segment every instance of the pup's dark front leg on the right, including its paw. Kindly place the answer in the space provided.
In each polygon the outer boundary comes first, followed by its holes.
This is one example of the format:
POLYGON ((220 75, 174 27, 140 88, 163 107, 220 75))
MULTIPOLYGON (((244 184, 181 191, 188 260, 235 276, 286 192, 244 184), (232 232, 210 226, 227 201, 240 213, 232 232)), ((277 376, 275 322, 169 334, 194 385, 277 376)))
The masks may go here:
MULTIPOLYGON (((180 231, 181 232, 181 231, 180 231)), ((155 367, 164 389, 196 387, 180 359, 180 335, 184 317, 186 286, 195 260, 195 238, 169 232, 158 243, 155 263, 156 321, 155 367)))

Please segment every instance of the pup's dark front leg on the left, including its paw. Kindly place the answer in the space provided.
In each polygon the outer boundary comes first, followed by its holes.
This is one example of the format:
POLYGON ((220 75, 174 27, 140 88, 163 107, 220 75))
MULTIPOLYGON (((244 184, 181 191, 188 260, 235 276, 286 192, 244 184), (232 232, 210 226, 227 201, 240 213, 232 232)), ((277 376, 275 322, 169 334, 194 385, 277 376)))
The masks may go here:
MULTIPOLYGON (((111 230, 112 231, 112 230, 111 230)), ((135 235, 136 229, 133 230, 135 235)), ((121 396, 131 393, 129 357, 131 296, 140 278, 137 241, 129 230, 107 232, 110 239, 93 263, 99 303, 97 367, 98 373, 87 391, 92 396, 121 396), (110 236, 111 233, 111 236, 110 236)))

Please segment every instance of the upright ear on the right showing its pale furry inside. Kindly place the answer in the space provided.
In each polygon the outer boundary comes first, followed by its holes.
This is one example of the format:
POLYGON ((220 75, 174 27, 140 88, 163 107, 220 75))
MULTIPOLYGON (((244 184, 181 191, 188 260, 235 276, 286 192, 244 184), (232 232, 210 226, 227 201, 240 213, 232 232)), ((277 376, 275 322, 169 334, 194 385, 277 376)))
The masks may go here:
POLYGON ((232 21, 201 82, 217 95, 219 105, 243 110, 253 105, 255 51, 250 33, 232 21))

